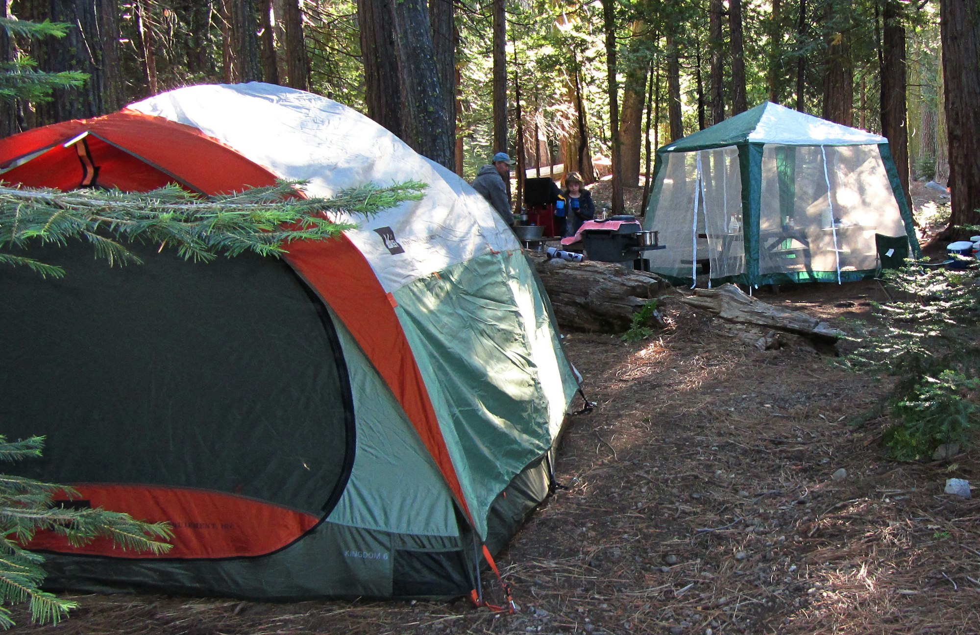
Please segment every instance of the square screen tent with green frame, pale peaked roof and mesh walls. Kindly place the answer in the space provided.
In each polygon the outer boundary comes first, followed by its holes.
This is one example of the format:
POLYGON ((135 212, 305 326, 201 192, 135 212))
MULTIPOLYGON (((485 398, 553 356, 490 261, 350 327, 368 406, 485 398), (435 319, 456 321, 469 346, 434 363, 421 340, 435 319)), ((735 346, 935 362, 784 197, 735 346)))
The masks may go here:
POLYGON ((769 102, 658 150, 644 228, 677 283, 844 282, 883 238, 919 253, 887 139, 769 102))

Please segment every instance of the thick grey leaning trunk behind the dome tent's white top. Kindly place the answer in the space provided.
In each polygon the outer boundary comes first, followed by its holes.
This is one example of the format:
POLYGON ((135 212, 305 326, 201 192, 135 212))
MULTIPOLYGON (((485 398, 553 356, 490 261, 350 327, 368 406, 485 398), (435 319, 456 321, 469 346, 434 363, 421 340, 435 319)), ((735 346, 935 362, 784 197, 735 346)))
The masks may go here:
POLYGON ((425 0, 389 4, 401 85, 404 136, 418 154, 453 170, 453 134, 432 45, 425 0))

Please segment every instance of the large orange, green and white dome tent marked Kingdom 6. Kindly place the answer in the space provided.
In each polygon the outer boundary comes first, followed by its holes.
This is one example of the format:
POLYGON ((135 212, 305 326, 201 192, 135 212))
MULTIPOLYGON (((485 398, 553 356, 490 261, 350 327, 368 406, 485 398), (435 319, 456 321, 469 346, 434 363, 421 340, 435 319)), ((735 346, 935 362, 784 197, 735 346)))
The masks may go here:
MULTIPOLYGON (((169 520, 156 557, 40 535, 55 588, 256 599, 452 597, 547 495, 577 383, 513 232, 456 174, 328 99, 181 88, 0 140, 0 180, 205 194, 308 180, 316 196, 427 183, 283 261, 134 246, 65 278, 0 269, 14 467, 73 505, 169 520)), ((32 252, 33 253, 33 252, 32 252)))

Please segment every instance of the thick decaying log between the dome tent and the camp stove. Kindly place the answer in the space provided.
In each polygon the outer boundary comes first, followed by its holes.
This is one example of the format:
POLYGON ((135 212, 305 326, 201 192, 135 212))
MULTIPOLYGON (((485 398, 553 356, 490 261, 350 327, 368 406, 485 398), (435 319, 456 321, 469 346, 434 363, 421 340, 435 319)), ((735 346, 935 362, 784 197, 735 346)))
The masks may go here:
POLYGON ((637 308, 656 298, 666 283, 654 273, 611 263, 548 260, 528 252, 566 330, 621 333, 637 308))

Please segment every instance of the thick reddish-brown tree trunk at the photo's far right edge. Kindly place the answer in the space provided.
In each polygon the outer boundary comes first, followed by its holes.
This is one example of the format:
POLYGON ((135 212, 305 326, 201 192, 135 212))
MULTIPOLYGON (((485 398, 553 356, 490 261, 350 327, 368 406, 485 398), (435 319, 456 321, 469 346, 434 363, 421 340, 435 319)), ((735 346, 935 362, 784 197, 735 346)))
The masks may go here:
POLYGON ((961 232, 956 225, 980 224, 980 7, 940 0, 940 32, 953 207, 946 239, 961 232))

